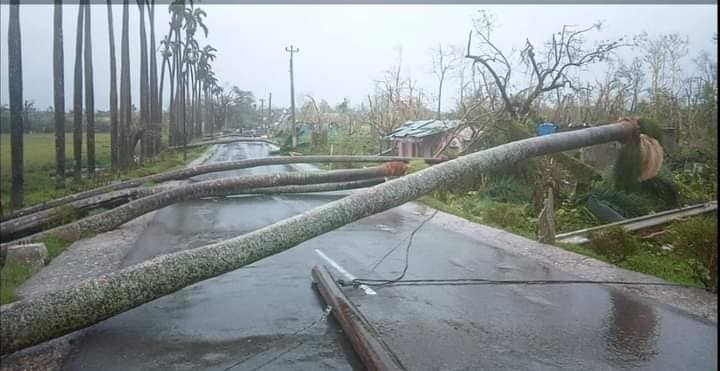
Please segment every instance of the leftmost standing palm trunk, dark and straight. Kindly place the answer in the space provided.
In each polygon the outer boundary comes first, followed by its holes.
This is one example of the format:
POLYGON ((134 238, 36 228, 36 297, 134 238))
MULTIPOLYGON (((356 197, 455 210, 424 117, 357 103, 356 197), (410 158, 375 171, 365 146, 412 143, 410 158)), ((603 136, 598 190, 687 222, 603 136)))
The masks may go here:
POLYGON ((23 98, 20 4, 10 1, 8 19, 8 87, 10 88, 10 208, 23 204, 23 98))

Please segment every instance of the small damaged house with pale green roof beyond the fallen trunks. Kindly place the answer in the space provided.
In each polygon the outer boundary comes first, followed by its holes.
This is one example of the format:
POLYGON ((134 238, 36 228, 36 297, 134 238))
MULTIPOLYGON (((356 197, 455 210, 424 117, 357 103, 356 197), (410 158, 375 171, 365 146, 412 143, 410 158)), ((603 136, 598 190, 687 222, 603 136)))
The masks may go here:
POLYGON ((472 137, 472 129, 465 128, 453 138, 460 120, 408 121, 385 136, 386 140, 397 142, 398 155, 407 157, 432 157, 448 141, 449 148, 462 151, 472 137))

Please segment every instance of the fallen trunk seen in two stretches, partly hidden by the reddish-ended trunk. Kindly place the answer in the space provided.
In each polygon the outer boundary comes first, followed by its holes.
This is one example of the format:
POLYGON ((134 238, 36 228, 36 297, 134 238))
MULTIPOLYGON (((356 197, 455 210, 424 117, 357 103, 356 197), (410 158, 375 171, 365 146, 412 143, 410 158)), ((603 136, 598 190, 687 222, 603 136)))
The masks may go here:
MULTIPOLYGON (((285 194, 285 193, 317 193, 347 189, 371 187, 385 181, 385 178, 373 178, 349 182, 320 183, 307 185, 277 186, 247 189, 237 194, 285 194)), ((163 192, 170 187, 132 188, 106 193, 100 196, 75 201, 68 205, 40 211, 35 214, 0 223, 2 242, 13 241, 30 234, 52 228, 58 224, 73 222, 96 208, 113 208, 132 200, 163 192), (63 223, 64 222, 64 223, 63 223)))

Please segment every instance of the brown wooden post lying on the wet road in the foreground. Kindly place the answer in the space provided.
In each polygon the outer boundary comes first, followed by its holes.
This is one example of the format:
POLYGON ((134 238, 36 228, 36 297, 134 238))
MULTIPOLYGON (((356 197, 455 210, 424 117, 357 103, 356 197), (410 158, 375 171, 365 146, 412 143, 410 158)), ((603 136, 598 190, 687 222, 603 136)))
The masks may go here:
POLYGON ((332 308, 353 349, 368 370, 405 370, 397 356, 380 339, 377 330, 362 316, 355 305, 345 296, 330 272, 316 265, 312 276, 320 295, 332 308))

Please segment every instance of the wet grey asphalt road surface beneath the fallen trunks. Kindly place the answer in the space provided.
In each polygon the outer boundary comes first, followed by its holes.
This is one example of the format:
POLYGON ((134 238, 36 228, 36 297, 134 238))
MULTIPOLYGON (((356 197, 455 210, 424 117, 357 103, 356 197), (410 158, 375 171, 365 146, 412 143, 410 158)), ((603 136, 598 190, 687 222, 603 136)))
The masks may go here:
MULTIPOLYGON (((265 144, 229 144, 210 161, 268 151, 265 144)), ((198 180, 298 168, 307 165, 198 180)), ((173 205, 158 212, 124 263, 236 236, 338 197, 243 196, 173 205)), ((323 263, 315 249, 356 276, 396 276, 408 235, 428 215, 412 204, 395 208, 113 317, 88 331, 65 368, 362 368, 311 287, 310 269, 323 263)), ((573 278, 489 247, 482 237, 431 220, 415 236, 406 278, 573 278)), ((347 290, 409 369, 717 369, 716 325, 605 286, 376 291, 347 290)))

